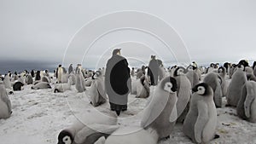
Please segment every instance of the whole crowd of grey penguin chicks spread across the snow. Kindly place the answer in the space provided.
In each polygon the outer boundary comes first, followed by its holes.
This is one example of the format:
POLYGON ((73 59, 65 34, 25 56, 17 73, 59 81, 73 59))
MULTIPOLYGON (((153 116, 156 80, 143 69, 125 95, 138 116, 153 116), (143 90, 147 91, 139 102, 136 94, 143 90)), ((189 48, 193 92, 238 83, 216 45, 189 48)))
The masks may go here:
MULTIPOLYGON (((159 68, 160 78, 154 78, 153 85, 145 68, 138 71, 133 68, 131 71, 131 94, 148 100, 140 126, 122 127, 117 124, 117 116, 112 113, 113 117, 91 119, 89 125, 76 122, 61 130, 58 143, 118 144, 122 141, 124 144, 156 144, 172 135, 176 123, 183 124, 183 133, 191 141, 208 143, 219 136, 216 135, 216 108, 221 107, 235 107, 239 118, 256 123, 255 67, 239 63, 224 66, 213 64, 205 69, 193 65, 165 69, 162 64, 159 68), (227 83, 229 78, 230 84, 227 83), (150 87, 155 88, 151 97, 150 87), (224 96, 227 99, 226 106, 223 104, 224 96), (136 132, 129 133, 131 130, 136 132), (125 132, 126 135, 118 135, 125 132)), ((75 72, 66 72, 60 66, 56 71, 59 77, 55 78, 57 83, 40 71, 34 77, 32 72, 5 75, 3 82, 0 82, 0 118, 11 117, 9 91, 22 90, 26 85, 30 85, 32 90, 53 88, 54 93, 72 89, 82 93, 89 87, 90 104, 92 107, 101 107, 108 101, 104 89, 104 72, 90 72, 81 66, 75 72)))

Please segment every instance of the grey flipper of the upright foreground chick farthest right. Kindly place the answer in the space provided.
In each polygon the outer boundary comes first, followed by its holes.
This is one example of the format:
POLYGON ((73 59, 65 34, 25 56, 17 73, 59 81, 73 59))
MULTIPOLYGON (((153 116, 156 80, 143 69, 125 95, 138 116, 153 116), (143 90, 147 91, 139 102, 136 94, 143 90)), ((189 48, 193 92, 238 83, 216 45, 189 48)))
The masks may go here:
POLYGON ((195 122, 195 141, 201 143, 202 131, 208 120, 208 107, 204 101, 197 102, 198 116, 195 122))

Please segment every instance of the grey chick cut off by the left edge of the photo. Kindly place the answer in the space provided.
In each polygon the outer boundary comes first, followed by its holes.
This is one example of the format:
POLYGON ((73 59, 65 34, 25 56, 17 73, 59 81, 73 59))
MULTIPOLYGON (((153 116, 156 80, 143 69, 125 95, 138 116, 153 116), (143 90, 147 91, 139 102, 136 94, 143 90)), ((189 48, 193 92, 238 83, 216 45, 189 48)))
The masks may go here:
POLYGON ((4 87, 4 84, 0 82, 0 119, 9 118, 12 113, 11 102, 9 101, 9 96, 4 87))

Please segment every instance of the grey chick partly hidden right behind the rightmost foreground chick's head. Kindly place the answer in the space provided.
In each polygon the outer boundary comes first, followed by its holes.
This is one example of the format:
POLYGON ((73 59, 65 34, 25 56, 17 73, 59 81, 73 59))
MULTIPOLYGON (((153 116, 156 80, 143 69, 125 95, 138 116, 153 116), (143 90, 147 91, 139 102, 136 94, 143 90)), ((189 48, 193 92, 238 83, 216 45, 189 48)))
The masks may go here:
POLYGON ((213 101, 215 103, 216 107, 222 106, 222 97, 223 97, 223 91, 222 91, 222 82, 223 79, 219 76, 216 72, 210 72, 207 74, 207 76, 204 78, 203 82, 208 84, 210 87, 212 87, 213 90, 213 101))

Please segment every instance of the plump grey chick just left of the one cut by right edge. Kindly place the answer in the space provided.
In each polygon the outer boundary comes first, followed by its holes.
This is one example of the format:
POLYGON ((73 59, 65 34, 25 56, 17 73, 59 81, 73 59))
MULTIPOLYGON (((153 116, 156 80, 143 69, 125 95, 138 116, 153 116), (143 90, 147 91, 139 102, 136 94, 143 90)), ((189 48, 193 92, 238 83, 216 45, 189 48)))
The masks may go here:
POLYGON ((246 73, 242 69, 237 69, 232 75, 230 85, 227 91, 227 106, 236 107, 241 97, 242 85, 247 82, 246 73))

